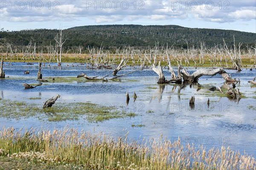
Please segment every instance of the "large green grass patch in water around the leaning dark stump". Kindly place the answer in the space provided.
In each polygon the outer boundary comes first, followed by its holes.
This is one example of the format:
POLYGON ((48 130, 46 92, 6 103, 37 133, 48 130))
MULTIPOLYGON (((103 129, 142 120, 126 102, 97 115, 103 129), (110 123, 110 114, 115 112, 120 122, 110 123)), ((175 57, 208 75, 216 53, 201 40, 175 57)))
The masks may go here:
POLYGON ((26 103, 11 100, 1 101, 1 116, 6 118, 28 118, 36 116, 51 122, 86 119, 88 122, 103 122, 109 119, 134 117, 135 113, 126 113, 121 109, 107 107, 90 102, 58 103, 51 108, 43 109, 42 104, 26 103), (46 116, 45 116, 46 115, 46 116), (42 118, 44 117, 44 118, 42 118))

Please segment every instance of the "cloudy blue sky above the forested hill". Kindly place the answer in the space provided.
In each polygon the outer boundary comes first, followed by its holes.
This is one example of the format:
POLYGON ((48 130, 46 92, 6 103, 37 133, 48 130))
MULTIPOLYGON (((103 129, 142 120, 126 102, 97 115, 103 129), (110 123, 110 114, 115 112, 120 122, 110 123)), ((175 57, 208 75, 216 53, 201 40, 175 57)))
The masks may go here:
POLYGON ((0 28, 178 25, 256 33, 256 0, 0 0, 0 28))

